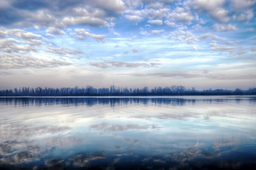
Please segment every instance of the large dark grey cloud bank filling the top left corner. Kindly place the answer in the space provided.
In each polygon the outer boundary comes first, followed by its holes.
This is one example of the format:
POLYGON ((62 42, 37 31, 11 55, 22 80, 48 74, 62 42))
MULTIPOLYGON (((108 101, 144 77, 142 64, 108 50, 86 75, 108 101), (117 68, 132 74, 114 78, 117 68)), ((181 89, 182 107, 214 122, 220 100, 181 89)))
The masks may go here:
POLYGON ((122 14, 126 9, 122 0, 79 0, 51 1, 37 3, 12 0, 6 2, 0 22, 17 27, 57 27, 73 25, 109 26, 113 14, 122 14), (33 10, 31 10, 33 9, 33 10))

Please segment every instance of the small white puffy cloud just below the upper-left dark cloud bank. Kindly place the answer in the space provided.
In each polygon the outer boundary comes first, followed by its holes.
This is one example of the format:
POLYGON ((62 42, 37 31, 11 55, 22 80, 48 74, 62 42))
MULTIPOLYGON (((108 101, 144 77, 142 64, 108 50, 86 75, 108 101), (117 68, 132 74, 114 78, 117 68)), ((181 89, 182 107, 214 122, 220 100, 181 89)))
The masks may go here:
POLYGON ((70 35, 76 37, 77 39, 84 40, 84 37, 91 37, 95 40, 105 42, 105 35, 92 34, 86 29, 75 29, 75 32, 71 32, 70 35))

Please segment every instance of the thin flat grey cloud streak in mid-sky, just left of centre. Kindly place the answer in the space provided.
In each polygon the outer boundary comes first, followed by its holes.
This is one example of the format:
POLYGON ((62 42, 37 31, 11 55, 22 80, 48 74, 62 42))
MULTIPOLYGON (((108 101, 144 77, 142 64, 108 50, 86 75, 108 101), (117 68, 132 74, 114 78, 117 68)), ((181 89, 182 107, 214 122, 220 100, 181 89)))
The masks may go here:
POLYGON ((160 65, 160 63, 128 63, 128 62, 122 62, 122 61, 105 61, 105 62, 90 62, 89 65, 106 69, 111 67, 128 67, 128 68, 155 67, 157 65, 160 65))

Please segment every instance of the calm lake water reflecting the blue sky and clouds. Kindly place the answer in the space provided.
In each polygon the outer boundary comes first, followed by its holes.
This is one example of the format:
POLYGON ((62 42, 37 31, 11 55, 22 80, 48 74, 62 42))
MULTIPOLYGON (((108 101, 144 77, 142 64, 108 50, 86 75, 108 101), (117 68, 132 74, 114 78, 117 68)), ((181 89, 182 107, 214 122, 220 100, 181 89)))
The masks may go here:
POLYGON ((254 169, 256 96, 0 98, 0 169, 254 169))

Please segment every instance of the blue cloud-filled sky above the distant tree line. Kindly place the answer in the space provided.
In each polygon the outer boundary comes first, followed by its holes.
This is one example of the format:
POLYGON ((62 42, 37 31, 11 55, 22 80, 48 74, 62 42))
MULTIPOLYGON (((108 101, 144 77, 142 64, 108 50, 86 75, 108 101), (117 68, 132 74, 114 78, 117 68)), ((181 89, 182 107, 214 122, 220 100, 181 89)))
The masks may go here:
POLYGON ((256 0, 0 0, 0 89, 256 86, 256 0))

